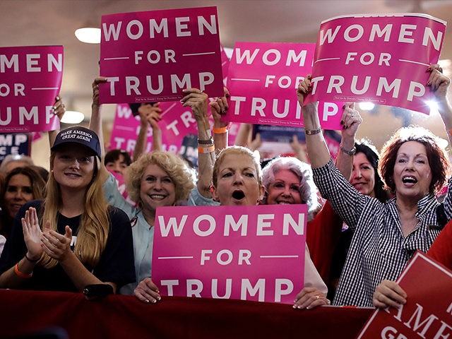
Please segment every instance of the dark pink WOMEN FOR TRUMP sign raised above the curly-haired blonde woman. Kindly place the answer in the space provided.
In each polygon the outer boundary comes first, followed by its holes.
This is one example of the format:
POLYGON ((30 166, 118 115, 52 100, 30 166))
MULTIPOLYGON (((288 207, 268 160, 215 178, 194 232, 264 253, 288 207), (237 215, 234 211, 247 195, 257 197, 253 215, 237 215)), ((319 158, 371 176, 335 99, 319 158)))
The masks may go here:
POLYGON ((220 96, 216 7, 102 16, 101 103, 179 100, 184 88, 220 96))

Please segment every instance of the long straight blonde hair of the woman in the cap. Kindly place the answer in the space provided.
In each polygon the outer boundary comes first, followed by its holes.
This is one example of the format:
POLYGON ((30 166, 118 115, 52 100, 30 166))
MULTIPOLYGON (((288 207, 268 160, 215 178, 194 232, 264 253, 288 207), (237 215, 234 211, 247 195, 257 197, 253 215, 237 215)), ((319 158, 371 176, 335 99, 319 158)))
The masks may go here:
MULTIPOLYGON (((50 154, 50 169, 53 168, 55 151, 50 154)), ((74 253, 77 258, 88 266, 94 268, 99 263, 100 255, 107 245, 107 238, 110 230, 110 220, 108 214, 108 203, 104 197, 102 189, 103 182, 97 172, 100 168, 100 160, 95 159, 95 168, 93 179, 91 180, 85 192, 85 208, 81 215, 80 225, 78 226, 77 242, 74 253)), ((49 176, 46 185, 46 197, 42 204, 41 225, 43 222, 50 221, 51 230, 57 231, 57 216, 62 201, 60 196, 59 184, 53 175, 49 176)), ((56 266, 58 261, 43 253, 40 258, 40 264, 45 268, 56 266)))

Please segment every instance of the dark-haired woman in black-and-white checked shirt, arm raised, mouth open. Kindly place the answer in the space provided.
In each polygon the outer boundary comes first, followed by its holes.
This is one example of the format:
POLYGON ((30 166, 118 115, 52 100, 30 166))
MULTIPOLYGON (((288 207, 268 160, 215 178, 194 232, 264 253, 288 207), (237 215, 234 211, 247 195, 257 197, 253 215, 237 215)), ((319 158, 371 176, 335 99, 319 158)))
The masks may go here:
MULTIPOLYGON (((429 87, 439 102, 439 112, 449 130, 452 109, 446 99, 450 80, 438 66, 430 66, 429 87)), ((437 139, 421 128, 405 128, 381 152, 379 172, 394 198, 381 203, 354 189, 338 169, 326 148, 319 129, 315 104, 303 106, 311 90, 311 76, 299 84, 297 95, 302 106, 307 150, 314 181, 322 196, 355 236, 350 245, 343 274, 333 304, 371 307, 376 286, 383 279, 395 280, 417 249, 427 251, 439 234, 436 225, 435 193, 446 182, 450 163, 437 139)), ((452 195, 444 199, 447 219, 452 218, 452 195)))

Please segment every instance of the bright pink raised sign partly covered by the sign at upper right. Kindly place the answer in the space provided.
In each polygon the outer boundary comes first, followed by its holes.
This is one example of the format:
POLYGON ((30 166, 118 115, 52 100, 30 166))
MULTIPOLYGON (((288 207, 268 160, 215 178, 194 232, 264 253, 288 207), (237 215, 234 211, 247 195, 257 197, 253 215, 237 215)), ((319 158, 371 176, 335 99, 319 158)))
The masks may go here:
MULTIPOLYGON (((237 42, 228 71, 227 119, 249 124, 303 126, 299 81, 312 72, 315 44, 237 42)), ((342 102, 322 102, 323 129, 340 129, 342 102)))

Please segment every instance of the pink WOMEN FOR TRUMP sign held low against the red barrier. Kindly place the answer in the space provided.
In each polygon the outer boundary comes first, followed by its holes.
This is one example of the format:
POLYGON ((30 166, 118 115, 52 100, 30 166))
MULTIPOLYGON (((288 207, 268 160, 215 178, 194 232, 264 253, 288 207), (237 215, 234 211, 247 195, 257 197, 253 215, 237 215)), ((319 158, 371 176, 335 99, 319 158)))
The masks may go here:
POLYGON ((293 304, 304 280, 306 205, 157 208, 162 295, 293 304))

